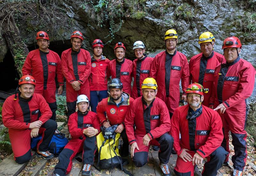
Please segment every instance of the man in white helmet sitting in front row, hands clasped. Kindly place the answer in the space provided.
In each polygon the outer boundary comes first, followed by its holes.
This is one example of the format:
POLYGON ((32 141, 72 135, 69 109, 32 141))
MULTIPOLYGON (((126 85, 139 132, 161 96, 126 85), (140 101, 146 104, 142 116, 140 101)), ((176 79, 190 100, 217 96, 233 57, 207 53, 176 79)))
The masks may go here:
POLYGON ((55 166, 54 175, 65 176, 72 169, 72 159, 83 151, 82 175, 91 174, 96 151, 96 135, 100 132, 100 121, 96 113, 89 111, 89 99, 86 95, 79 95, 76 101, 78 111, 68 119, 68 130, 72 139, 68 142, 59 156, 59 163, 55 166))

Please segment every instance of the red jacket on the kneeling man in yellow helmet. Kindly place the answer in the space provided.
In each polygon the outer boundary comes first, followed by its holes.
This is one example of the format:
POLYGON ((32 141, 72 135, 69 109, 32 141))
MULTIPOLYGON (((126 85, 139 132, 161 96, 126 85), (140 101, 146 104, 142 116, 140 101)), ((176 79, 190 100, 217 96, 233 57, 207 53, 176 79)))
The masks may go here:
POLYGON ((149 134, 152 140, 170 131, 170 115, 164 101, 156 97, 148 108, 146 104, 142 96, 136 98, 125 117, 124 124, 130 144, 136 142, 135 135, 149 134))

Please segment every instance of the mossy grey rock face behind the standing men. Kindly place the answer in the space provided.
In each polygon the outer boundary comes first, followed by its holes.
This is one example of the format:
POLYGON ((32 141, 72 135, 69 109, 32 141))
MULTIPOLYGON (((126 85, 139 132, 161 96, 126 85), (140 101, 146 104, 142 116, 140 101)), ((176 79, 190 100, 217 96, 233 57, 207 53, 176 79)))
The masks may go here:
MULTIPOLYGON (((47 2, 51 4, 51 0, 47 0, 42 9, 47 2)), ((236 0, 59 0, 56 5, 64 9, 58 11, 63 16, 63 19, 59 20, 67 22, 65 25, 55 24, 55 29, 48 32, 53 44, 52 50, 55 47, 54 42, 63 41, 63 44, 67 45, 72 31, 80 30, 85 36, 83 48, 91 53, 92 41, 100 38, 108 43, 103 50, 108 58, 114 58, 114 45, 123 42, 126 46, 125 57, 134 59, 132 45, 141 40, 146 45, 147 54, 154 57, 165 49, 165 31, 174 28, 179 35, 178 51, 184 53, 189 60, 200 52, 197 43, 200 34, 210 31, 216 40, 214 50, 219 53, 223 53, 221 45, 226 37, 239 37, 243 45, 242 58, 256 68, 256 13, 253 9, 256 3, 253 4, 252 1, 243 4, 236 0)), ((31 24, 27 21, 19 28, 28 46, 33 46, 35 42, 35 36, 26 30, 31 24)), ((43 26, 40 29, 48 28, 49 26, 43 26)), ((58 48, 61 50, 61 44, 58 48)), ((256 101, 255 93, 254 91, 250 103, 256 101)))

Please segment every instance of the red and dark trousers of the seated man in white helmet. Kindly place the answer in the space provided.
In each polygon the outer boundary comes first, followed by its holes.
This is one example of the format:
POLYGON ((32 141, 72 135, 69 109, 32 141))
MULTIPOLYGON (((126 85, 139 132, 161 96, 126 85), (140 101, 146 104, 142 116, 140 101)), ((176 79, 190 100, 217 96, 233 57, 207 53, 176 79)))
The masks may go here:
POLYGON ((72 160, 77 153, 83 151, 83 164, 93 164, 96 151, 96 136, 85 139, 72 139, 59 155, 59 163, 55 166, 54 173, 65 176, 72 169, 72 160))

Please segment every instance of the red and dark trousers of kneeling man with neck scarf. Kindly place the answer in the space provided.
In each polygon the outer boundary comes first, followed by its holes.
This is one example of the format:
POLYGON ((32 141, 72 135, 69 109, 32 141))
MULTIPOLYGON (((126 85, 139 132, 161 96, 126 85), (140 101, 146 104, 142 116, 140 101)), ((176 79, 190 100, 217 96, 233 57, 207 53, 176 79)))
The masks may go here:
MULTIPOLYGON (((195 155, 194 151, 187 151, 192 157, 195 155)), ((224 148, 219 147, 207 157, 207 162, 204 164, 204 170, 202 176, 215 176, 218 169, 221 168, 228 152, 224 148)), ((180 157, 177 158, 176 166, 174 167, 174 173, 177 176, 193 176, 195 166, 192 165, 192 161, 185 162, 180 157)))

